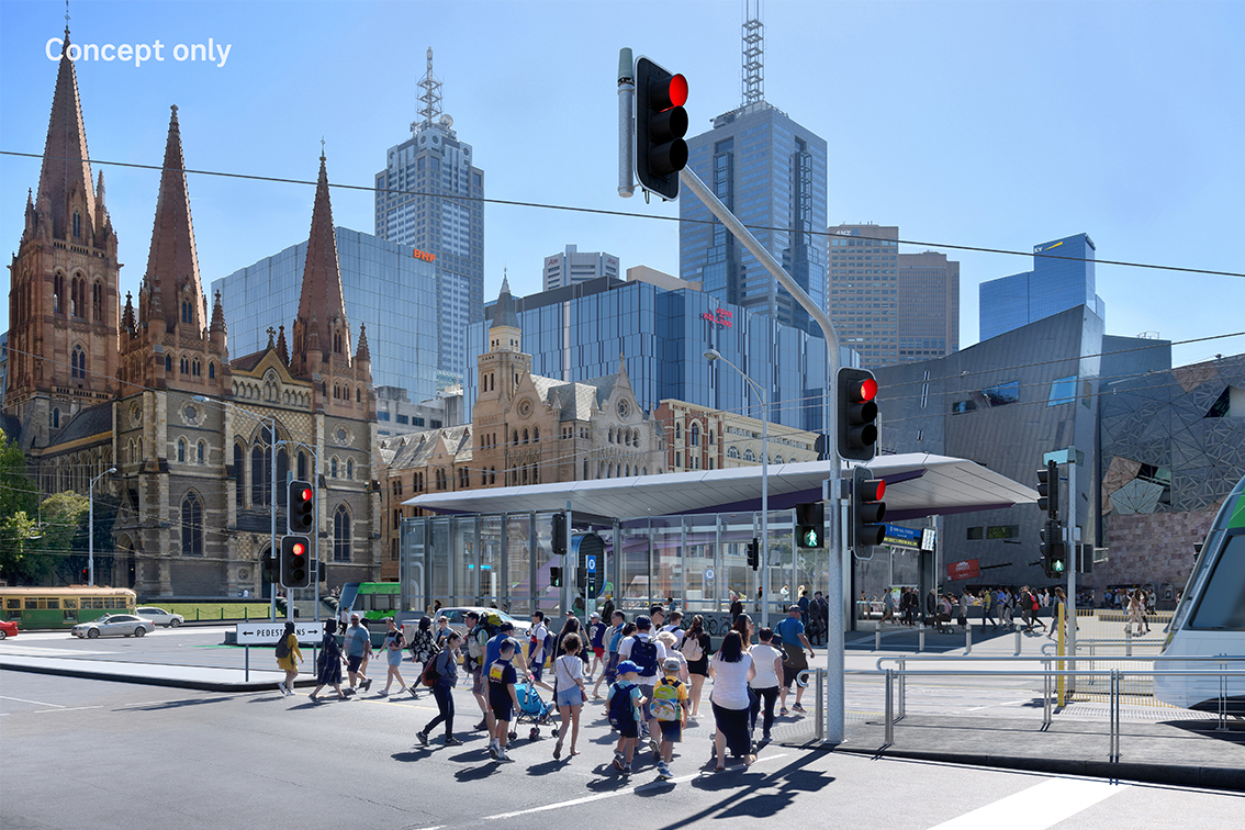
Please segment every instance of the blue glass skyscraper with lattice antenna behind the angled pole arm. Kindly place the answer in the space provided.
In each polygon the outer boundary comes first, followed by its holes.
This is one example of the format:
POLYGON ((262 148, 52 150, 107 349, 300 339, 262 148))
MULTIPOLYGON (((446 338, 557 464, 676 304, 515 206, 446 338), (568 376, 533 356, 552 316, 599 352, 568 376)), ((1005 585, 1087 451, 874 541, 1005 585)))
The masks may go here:
MULTIPOLYGON (((693 170, 819 307, 825 307, 825 141, 764 101, 763 27, 743 25, 743 101, 687 142, 693 170)), ((808 312, 700 199, 679 200, 679 271, 726 302, 820 336, 808 312), (712 224, 708 224, 712 223, 712 224)))

